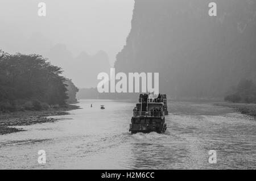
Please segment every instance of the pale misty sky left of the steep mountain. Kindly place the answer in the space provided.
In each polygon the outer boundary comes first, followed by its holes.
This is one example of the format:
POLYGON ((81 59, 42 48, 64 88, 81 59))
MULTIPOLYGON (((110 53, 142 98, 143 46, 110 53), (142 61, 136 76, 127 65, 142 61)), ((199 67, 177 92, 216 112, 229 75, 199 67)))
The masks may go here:
POLYGON ((133 6, 133 0, 1 0, 0 49, 20 52, 27 37, 39 34, 52 45, 66 44, 73 56, 104 50, 113 64, 130 32, 133 6), (38 16, 39 2, 47 5, 46 17, 38 16))

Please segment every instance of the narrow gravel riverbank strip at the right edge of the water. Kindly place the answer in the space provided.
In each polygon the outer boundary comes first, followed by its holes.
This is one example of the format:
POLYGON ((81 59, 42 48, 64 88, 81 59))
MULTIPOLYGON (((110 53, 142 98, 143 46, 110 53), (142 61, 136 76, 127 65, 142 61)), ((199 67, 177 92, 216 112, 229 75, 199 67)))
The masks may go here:
POLYGON ((254 116, 256 118, 256 104, 245 103, 216 103, 217 106, 234 108, 244 115, 254 116))

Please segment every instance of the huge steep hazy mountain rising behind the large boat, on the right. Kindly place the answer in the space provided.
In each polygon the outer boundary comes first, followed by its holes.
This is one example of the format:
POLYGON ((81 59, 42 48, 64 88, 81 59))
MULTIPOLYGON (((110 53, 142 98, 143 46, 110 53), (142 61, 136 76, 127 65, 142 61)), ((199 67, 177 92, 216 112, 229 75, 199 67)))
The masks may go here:
POLYGON ((222 98, 242 78, 256 80, 256 2, 135 0, 131 32, 116 72, 159 72, 172 98, 222 98))

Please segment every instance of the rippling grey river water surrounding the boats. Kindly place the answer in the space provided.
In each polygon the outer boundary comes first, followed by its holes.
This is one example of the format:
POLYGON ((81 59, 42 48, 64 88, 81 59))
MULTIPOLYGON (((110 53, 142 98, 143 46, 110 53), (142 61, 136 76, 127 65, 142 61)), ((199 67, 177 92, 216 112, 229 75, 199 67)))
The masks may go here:
POLYGON ((135 102, 80 100, 82 109, 55 123, 0 136, 0 169, 256 169, 253 117, 212 103, 168 104, 166 133, 130 134, 135 102))

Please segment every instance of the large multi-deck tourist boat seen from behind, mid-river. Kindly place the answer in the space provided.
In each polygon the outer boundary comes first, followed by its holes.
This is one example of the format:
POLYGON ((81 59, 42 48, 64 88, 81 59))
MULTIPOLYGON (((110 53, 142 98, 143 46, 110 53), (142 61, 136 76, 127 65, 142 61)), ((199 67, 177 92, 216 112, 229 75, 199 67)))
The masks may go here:
POLYGON ((163 133, 167 129, 165 115, 168 115, 165 94, 141 94, 139 103, 133 110, 129 131, 132 134, 137 132, 163 133))

